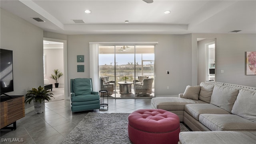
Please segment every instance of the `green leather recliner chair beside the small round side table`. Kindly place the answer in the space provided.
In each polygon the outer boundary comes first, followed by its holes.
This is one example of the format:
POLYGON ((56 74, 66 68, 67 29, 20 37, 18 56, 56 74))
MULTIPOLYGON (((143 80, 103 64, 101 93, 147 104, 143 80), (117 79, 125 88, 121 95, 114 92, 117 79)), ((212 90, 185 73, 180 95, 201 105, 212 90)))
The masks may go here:
POLYGON ((93 91, 92 78, 70 79, 71 111, 100 109, 99 92, 93 91))

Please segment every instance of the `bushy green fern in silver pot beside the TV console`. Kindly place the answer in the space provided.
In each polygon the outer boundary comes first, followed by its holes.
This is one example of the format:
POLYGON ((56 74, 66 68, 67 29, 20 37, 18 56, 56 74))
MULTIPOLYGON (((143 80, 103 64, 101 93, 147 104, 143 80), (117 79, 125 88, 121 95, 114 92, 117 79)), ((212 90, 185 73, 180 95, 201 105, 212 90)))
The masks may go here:
MULTIPOLYGON (((44 101, 50 101, 53 94, 51 91, 44 90, 44 87, 39 86, 38 89, 32 88, 27 91, 25 103, 29 103, 33 100, 35 113, 44 112, 44 101)), ((54 98, 54 97, 53 97, 54 98)))

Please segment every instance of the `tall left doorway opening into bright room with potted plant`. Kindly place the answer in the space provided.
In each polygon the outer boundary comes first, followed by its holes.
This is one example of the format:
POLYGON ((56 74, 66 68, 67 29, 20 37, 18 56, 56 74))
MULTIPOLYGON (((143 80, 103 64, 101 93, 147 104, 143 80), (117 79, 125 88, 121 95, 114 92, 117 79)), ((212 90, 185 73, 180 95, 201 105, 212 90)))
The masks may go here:
POLYGON ((66 80, 66 66, 65 66, 65 51, 66 41, 58 39, 44 38, 44 84, 52 84, 52 93, 54 99, 51 101, 58 101, 68 99, 67 97, 67 80, 66 80), (55 86, 55 80, 51 78, 54 70, 58 69, 63 73, 58 80, 58 88, 55 86))

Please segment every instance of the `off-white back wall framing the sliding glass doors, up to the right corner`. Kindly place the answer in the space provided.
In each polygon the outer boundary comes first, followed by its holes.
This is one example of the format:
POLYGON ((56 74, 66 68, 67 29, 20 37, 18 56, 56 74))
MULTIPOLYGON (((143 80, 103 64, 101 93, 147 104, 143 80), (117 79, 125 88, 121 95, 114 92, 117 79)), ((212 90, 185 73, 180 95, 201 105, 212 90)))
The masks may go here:
POLYGON ((158 42, 155 56, 157 95, 178 95, 192 84, 191 35, 68 35, 68 80, 89 77, 89 42, 113 41, 158 42), (76 71, 76 55, 85 56, 85 72, 76 71), (169 75, 166 70, 170 70, 169 75))

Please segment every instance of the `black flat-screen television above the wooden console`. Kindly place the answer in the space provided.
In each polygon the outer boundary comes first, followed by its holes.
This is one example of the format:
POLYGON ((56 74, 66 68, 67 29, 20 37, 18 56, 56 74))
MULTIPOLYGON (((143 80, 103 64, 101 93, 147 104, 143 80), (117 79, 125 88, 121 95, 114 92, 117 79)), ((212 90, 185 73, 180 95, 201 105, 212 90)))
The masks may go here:
POLYGON ((1 95, 14 91, 13 72, 12 72, 12 51, 0 49, 0 77, 1 77, 1 95))

